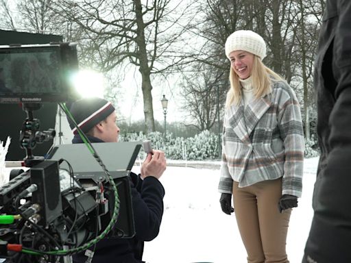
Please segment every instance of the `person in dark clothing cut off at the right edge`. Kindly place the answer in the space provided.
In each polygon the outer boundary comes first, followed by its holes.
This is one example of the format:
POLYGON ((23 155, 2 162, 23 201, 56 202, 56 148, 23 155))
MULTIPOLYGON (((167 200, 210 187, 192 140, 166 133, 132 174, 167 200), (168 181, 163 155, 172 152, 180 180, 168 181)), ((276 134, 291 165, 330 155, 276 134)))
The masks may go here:
POLYGON ((351 262, 351 1, 327 0, 315 63, 319 147, 303 262, 351 262))

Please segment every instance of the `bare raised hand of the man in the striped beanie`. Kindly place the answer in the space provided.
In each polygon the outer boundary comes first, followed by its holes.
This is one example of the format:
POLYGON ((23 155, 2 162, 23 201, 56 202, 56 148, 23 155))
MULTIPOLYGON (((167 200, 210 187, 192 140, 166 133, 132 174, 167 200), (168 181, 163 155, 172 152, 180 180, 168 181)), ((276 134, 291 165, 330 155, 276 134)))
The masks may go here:
POLYGON ((152 153, 147 153, 147 157, 141 166, 141 178, 148 176, 160 179, 162 173, 166 170, 166 158, 163 151, 152 150, 152 153))

